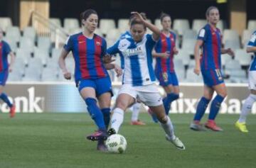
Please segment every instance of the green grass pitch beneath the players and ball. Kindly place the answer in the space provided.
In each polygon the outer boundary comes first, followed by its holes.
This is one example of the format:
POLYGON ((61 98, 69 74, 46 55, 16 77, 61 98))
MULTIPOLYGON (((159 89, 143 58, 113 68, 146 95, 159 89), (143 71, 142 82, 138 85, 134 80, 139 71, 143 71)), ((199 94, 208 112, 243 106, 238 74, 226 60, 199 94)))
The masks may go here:
POLYGON ((125 115, 119 133, 128 146, 119 155, 99 152, 96 142, 85 140, 96 129, 86 113, 18 113, 12 119, 1 113, 0 167, 256 167, 256 116, 248 117, 250 133, 244 134, 234 127, 238 115, 219 115, 224 131, 215 133, 188 129, 191 114, 171 114, 176 135, 186 145, 181 151, 148 114, 140 114, 145 126, 129 125, 130 113, 125 115))

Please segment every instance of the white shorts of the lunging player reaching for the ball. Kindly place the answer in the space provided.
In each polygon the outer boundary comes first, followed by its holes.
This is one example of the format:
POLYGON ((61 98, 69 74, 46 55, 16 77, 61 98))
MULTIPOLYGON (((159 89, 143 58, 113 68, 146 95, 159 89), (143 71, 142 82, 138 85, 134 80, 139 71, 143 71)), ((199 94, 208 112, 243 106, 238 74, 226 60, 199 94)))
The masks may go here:
POLYGON ((119 89, 119 94, 129 94, 135 100, 139 99, 146 106, 160 106, 163 101, 159 90, 155 84, 149 84, 144 86, 132 86, 131 84, 123 84, 119 89))

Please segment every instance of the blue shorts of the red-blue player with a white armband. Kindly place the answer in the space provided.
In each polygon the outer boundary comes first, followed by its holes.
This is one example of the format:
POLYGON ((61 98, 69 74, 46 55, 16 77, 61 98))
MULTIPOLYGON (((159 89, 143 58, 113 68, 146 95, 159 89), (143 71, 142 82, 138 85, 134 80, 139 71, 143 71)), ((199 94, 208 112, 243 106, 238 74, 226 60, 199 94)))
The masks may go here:
POLYGON ((220 69, 202 70, 203 83, 207 86, 215 86, 224 83, 220 69))

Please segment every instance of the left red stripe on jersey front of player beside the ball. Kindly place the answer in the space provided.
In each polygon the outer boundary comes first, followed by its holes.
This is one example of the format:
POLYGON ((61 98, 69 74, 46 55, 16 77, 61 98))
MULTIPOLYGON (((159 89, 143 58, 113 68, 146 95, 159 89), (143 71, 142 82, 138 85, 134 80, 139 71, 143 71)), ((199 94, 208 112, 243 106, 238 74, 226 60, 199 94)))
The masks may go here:
POLYGON ((87 45, 84 35, 78 36, 78 57, 80 64, 80 72, 83 79, 90 78, 90 73, 87 67, 87 45))

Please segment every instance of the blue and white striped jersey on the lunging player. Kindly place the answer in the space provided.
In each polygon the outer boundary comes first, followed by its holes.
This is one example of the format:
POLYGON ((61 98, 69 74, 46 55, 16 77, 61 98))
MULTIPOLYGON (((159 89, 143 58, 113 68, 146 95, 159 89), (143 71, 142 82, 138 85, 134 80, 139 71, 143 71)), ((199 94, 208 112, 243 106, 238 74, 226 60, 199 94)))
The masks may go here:
POLYGON ((107 49, 107 53, 110 55, 121 52, 124 56, 123 84, 144 86, 156 81, 151 55, 155 44, 156 41, 153 40, 152 35, 144 35, 139 43, 136 43, 128 35, 124 35, 107 49))

